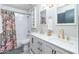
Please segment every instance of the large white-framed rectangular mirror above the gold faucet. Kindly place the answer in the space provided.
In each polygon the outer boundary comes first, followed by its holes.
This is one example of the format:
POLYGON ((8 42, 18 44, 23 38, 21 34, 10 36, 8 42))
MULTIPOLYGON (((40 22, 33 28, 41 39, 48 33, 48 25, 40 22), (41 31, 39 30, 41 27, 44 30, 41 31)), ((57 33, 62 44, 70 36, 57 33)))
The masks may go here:
POLYGON ((76 8, 75 5, 64 5, 57 8, 57 25, 75 25, 76 8))

